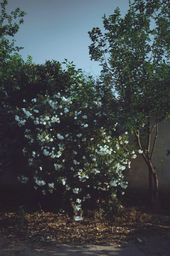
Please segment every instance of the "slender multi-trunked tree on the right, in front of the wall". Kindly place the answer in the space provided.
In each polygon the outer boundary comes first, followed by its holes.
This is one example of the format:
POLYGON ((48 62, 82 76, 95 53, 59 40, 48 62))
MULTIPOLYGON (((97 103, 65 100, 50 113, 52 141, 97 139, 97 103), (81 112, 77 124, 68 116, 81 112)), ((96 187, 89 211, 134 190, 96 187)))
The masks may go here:
POLYGON ((135 133, 149 170, 150 196, 153 199, 153 176, 154 198, 158 202, 158 179, 152 157, 158 123, 169 117, 170 0, 135 0, 132 5, 129 1, 129 6, 124 18, 120 17, 118 7, 108 19, 104 14, 103 24, 108 30, 104 35, 98 27, 88 32, 93 42, 89 54, 91 60, 101 63, 100 79, 119 95, 120 123, 135 133), (151 20, 155 22, 154 29, 150 28, 151 20), (156 120, 150 124, 153 113, 156 120), (150 138, 155 128, 151 148, 150 138), (143 135, 148 138, 146 146, 141 144, 143 135))

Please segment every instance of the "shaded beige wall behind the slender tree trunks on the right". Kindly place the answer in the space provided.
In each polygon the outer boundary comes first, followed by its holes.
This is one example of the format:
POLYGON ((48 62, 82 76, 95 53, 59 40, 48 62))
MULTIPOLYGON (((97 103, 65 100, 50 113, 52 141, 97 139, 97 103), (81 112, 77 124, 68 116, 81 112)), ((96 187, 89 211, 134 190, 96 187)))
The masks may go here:
MULTIPOLYGON (((151 117, 151 125, 153 125, 156 119, 156 114, 151 117)), ((164 161, 161 165, 155 169, 158 176, 159 189, 170 189, 170 155, 167 154, 167 149, 170 148, 170 118, 167 119, 168 123, 161 121, 158 123, 158 136, 156 140, 155 148, 158 150, 157 154, 152 157, 153 167, 157 166, 161 161, 163 156, 165 156, 164 161)), ((153 145, 154 136, 156 134, 156 127, 151 133, 151 144, 153 145)), ((129 145, 136 145, 137 142, 134 141, 135 135, 129 135, 129 145)), ((145 145, 147 144, 147 138, 145 139, 145 145)), ((144 143, 144 142, 142 142, 144 143)), ((150 147, 151 148, 151 147, 150 147)), ((151 152, 151 150, 150 150, 151 152)), ((135 152, 137 157, 131 159, 131 172, 124 174, 125 180, 128 181, 128 187, 132 188, 148 188, 149 187, 149 172, 148 166, 145 163, 141 154, 135 152)), ((153 182, 154 183, 154 182, 153 182)))

